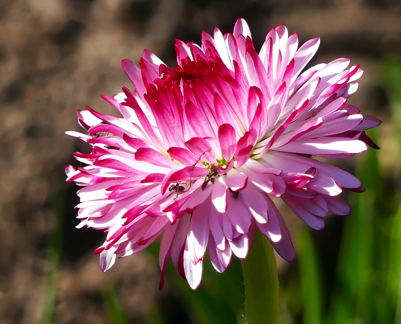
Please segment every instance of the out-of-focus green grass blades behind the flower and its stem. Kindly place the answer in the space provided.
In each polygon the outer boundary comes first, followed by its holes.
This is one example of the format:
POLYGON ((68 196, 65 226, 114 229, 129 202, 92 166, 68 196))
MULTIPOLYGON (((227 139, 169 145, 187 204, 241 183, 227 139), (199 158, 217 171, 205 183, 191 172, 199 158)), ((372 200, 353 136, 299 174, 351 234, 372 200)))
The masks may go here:
MULTIPOLYGON (((378 65, 381 86, 390 99, 395 148, 401 153, 401 58, 378 65)), ((375 130, 369 132, 377 140, 375 130)), ((332 287, 323 280, 321 253, 315 232, 301 230, 295 238, 298 257, 292 274, 280 282, 282 324, 401 324, 401 205, 397 186, 381 174, 377 151, 369 148, 358 164, 356 176, 366 191, 350 193, 352 213, 344 221, 332 287)), ((53 203, 58 223, 49 240, 49 271, 45 280, 46 300, 41 324, 51 324, 57 293, 57 272, 61 256, 61 219, 65 195, 53 203), (64 198, 63 198, 64 197, 64 198)), ((147 248, 158 257, 158 242, 147 248)), ((203 282, 197 290, 176 274, 171 261, 166 278, 193 324, 243 324, 244 286, 241 264, 233 258, 218 274, 205 256, 203 282)), ((128 324, 113 286, 102 291, 112 324, 128 324)), ((148 312, 149 324, 172 324, 161 302, 148 312)))

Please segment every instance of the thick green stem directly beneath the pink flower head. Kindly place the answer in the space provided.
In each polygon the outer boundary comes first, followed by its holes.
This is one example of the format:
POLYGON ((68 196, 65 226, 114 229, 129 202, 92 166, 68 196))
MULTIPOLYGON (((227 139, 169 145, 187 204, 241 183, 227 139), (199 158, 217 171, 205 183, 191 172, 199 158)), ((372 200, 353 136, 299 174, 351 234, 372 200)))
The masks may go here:
POLYGON ((257 229, 252 248, 242 260, 247 324, 279 324, 280 299, 273 246, 257 229))

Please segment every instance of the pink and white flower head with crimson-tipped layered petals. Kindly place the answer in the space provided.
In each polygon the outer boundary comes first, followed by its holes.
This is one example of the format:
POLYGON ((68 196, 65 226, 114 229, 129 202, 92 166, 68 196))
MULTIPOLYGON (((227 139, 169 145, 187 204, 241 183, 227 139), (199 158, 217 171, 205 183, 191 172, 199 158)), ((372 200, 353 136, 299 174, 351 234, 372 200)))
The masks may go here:
POLYGON ((123 60, 135 86, 103 96, 122 118, 79 110, 92 146, 76 152, 85 164, 67 166, 67 181, 84 186, 78 218, 105 230, 100 267, 146 248, 162 235, 159 264, 171 256, 192 288, 201 282, 206 249, 223 272, 232 254, 245 258, 255 228, 286 260, 294 248, 271 200, 281 197, 309 226, 321 229, 333 212, 350 213, 343 189, 362 192, 348 172, 310 156, 345 158, 377 148, 363 130, 380 121, 347 104, 363 74, 338 58, 302 72, 320 39, 298 48, 298 35, 280 25, 259 54, 247 23, 233 34, 203 32, 202 45, 176 40, 171 70, 145 50, 140 67, 123 60), (301 73, 302 72, 302 73, 301 73))

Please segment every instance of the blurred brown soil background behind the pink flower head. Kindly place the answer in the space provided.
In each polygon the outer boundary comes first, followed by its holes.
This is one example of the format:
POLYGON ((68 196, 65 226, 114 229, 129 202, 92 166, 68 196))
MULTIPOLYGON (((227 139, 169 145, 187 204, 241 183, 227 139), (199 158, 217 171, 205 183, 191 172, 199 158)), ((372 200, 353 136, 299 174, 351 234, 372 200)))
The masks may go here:
MULTIPOLYGON (((154 51, 174 66, 174 38, 200 41, 202 30, 230 32, 245 18, 260 48, 272 27, 286 24, 303 42, 321 36, 314 62, 352 58, 366 70, 350 101, 379 115, 381 164, 389 174, 397 152, 376 62, 401 53, 399 0, 2 0, 0 2, 0 323, 37 323, 45 302, 51 197, 62 188, 64 166, 76 150, 64 135, 78 130, 75 110, 85 105, 114 113, 99 93, 130 86, 121 60, 154 51)), ((352 166, 348 166, 352 168, 352 166)), ((71 206, 75 187, 67 188, 71 206)), ((118 260, 107 274, 92 250, 101 233, 75 230, 74 210, 64 241, 54 323, 108 323, 100 290, 114 281, 132 323, 169 287, 158 292, 160 270, 146 254, 118 260)))

